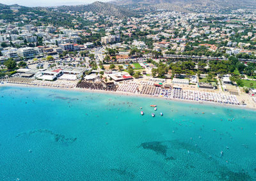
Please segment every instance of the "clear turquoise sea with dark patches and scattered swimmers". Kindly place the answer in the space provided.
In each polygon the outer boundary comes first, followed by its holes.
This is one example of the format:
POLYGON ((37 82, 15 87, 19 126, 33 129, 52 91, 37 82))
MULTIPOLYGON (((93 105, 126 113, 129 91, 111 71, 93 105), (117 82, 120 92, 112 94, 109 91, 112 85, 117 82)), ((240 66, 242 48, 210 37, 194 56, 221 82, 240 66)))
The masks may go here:
POLYGON ((0 180, 256 180, 252 110, 0 87, 0 130, 0 180))

